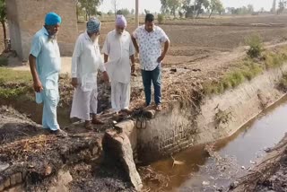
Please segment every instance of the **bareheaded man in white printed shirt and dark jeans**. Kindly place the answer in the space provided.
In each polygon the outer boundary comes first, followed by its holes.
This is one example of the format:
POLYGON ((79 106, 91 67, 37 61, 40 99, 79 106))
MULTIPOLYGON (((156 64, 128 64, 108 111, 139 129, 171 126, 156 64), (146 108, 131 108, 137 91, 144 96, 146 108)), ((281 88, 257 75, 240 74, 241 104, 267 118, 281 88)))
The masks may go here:
POLYGON ((140 54, 146 106, 152 104, 153 84, 156 110, 160 111, 161 62, 170 47, 170 39, 160 27, 154 25, 154 16, 150 13, 145 16, 145 24, 134 31, 132 39, 135 50, 140 54), (161 52, 162 43, 164 49, 161 52))

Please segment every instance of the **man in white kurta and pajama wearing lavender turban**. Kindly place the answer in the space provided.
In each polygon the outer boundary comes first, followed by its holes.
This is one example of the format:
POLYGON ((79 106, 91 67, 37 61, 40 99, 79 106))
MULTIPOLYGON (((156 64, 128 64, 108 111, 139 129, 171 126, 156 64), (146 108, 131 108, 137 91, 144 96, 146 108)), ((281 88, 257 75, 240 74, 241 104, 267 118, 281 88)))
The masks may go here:
POLYGON ((125 17, 117 15, 116 29, 108 33, 102 49, 111 81, 111 106, 117 114, 130 112, 130 79, 135 72, 135 48, 125 29, 125 17))

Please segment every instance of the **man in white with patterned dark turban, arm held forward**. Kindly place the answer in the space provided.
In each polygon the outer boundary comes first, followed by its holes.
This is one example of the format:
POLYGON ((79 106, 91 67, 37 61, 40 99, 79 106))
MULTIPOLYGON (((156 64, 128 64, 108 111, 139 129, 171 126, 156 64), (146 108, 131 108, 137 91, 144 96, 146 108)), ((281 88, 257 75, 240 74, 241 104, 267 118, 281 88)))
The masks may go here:
POLYGON ((98 39, 100 35, 100 21, 91 18, 84 31, 76 41, 72 57, 72 84, 75 88, 71 118, 85 120, 84 127, 91 128, 92 124, 103 124, 97 118, 98 70, 103 73, 105 81, 109 76, 100 57, 98 39), (90 116, 92 114, 92 118, 90 116))

